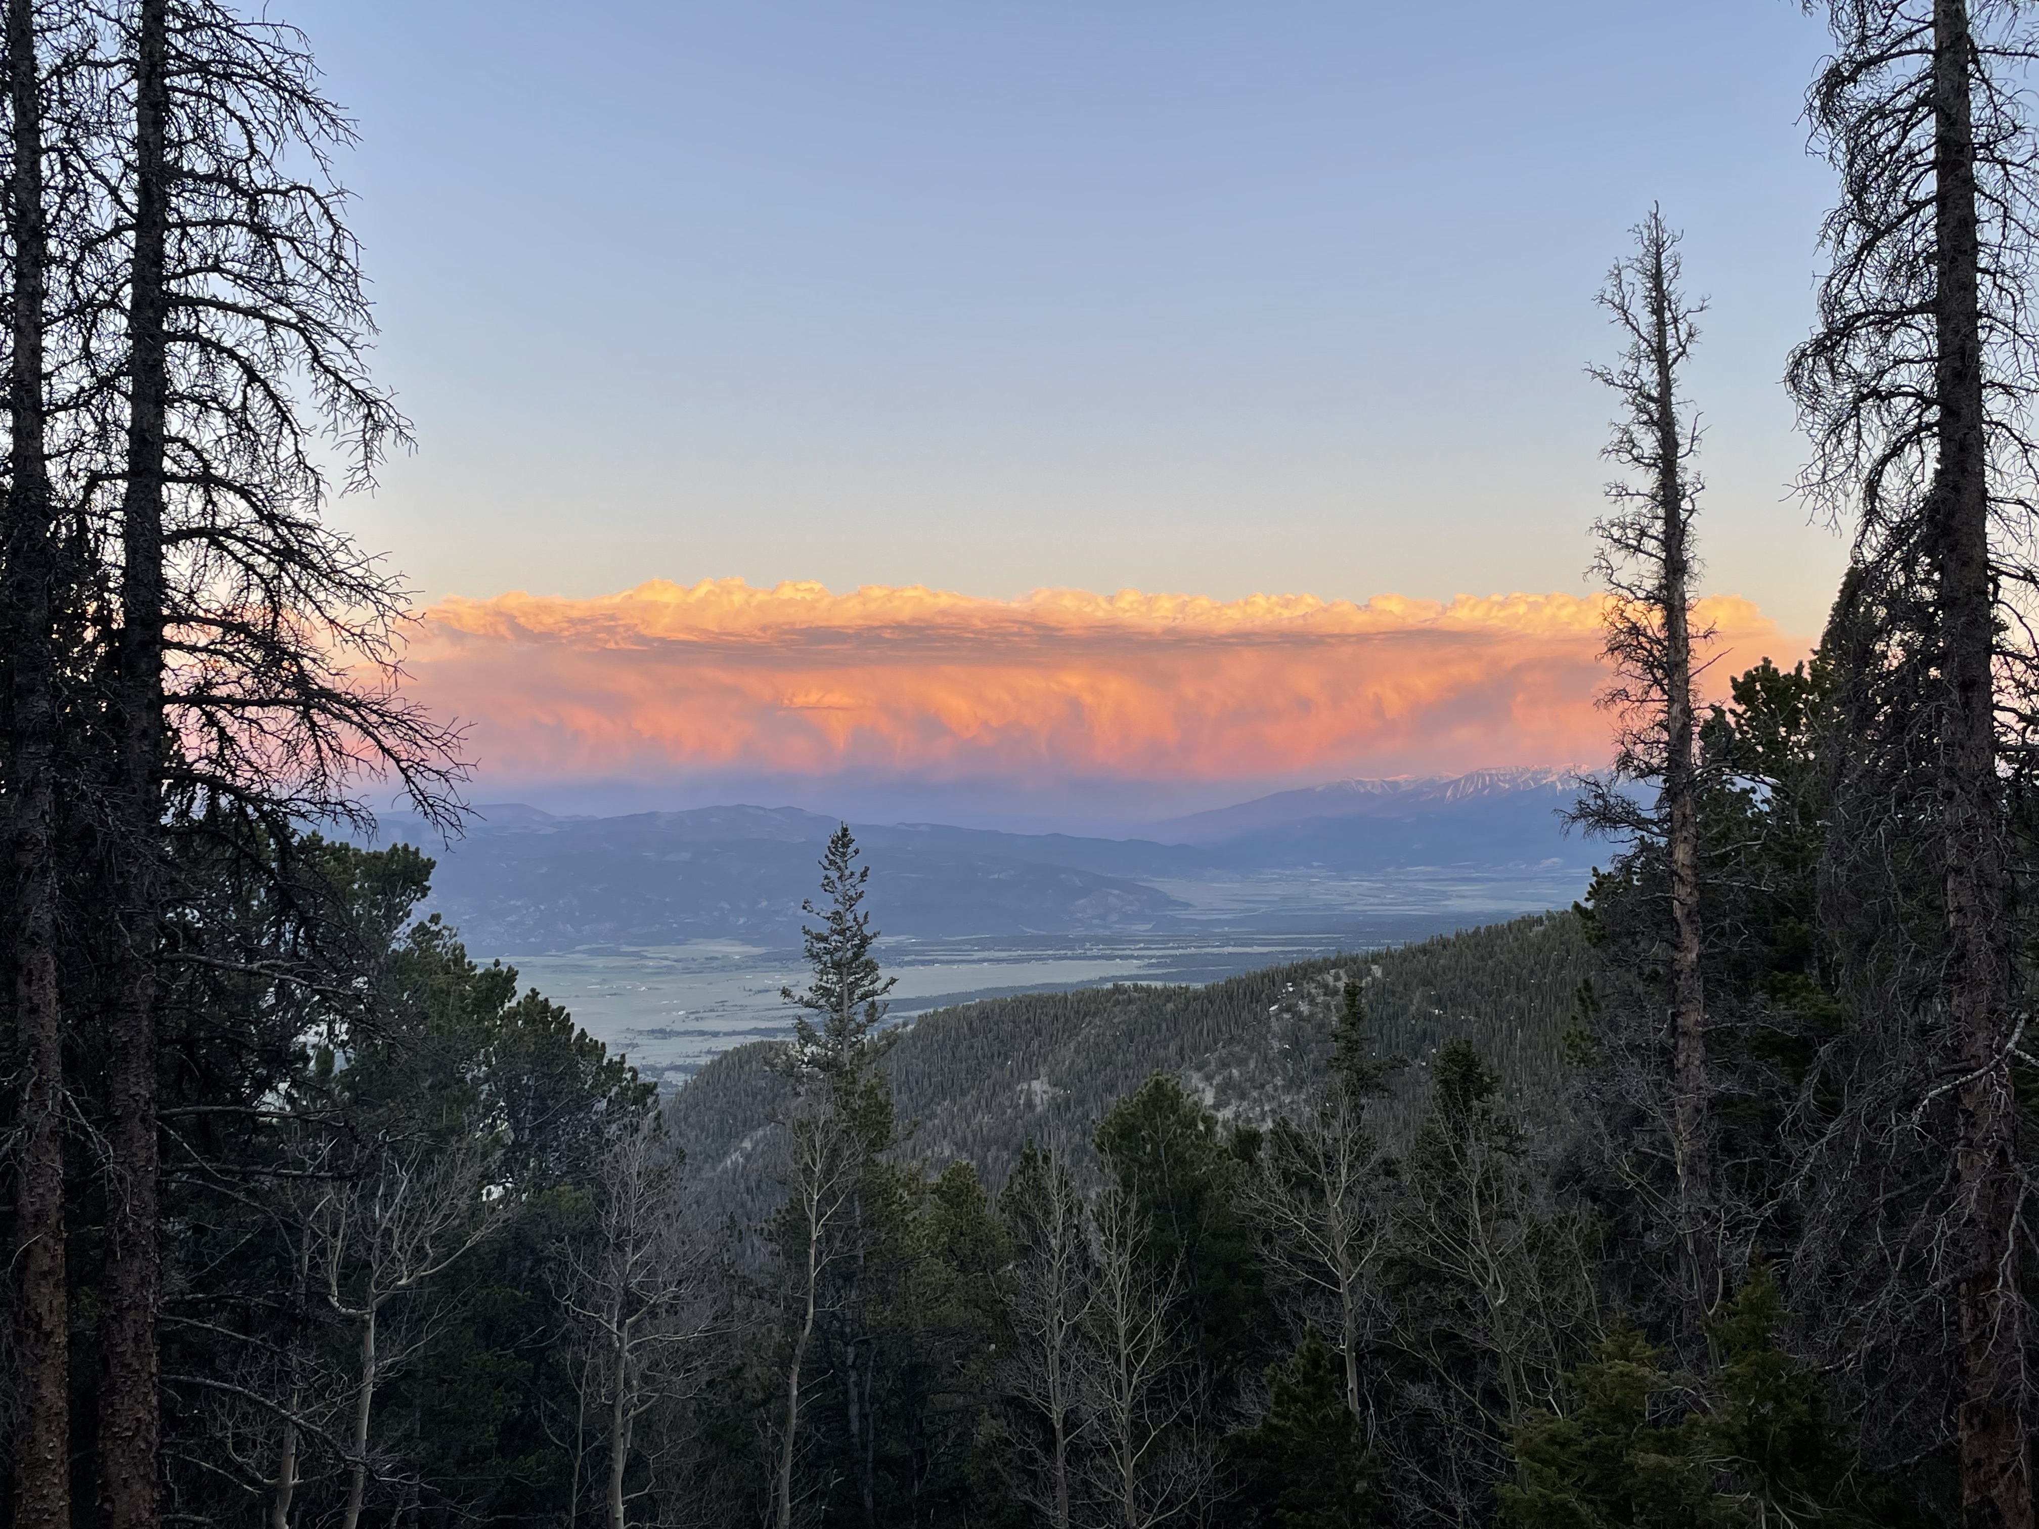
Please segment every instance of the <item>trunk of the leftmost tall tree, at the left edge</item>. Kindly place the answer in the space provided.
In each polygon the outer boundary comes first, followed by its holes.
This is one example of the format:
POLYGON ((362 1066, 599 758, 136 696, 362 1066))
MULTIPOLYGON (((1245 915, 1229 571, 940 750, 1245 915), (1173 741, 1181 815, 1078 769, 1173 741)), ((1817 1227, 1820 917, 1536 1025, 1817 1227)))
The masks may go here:
POLYGON ((63 1009, 57 985, 57 534, 43 404, 47 224, 43 106, 33 0, 6 0, 8 102, 14 126, 8 236, 12 351, 8 375, 6 599, 12 795, 8 944, 14 966, 18 1146, 14 1180, 14 1521, 65 1529, 69 1488, 69 1299, 63 1248, 63 1009))

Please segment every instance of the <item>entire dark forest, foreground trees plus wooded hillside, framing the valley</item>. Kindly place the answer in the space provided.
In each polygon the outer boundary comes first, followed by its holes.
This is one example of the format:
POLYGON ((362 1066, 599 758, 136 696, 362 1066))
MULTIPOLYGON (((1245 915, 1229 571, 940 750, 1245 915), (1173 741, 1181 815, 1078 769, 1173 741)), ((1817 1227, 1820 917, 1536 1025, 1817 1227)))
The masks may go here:
POLYGON ((347 842, 461 762, 322 522, 406 422, 304 41, 0 22, 8 1521, 2033 1529, 2021 4, 1831 6, 1853 559, 1717 705, 1701 306, 1656 210, 1613 269, 1584 903, 903 1032, 844 830, 793 1038, 673 1099, 347 842))

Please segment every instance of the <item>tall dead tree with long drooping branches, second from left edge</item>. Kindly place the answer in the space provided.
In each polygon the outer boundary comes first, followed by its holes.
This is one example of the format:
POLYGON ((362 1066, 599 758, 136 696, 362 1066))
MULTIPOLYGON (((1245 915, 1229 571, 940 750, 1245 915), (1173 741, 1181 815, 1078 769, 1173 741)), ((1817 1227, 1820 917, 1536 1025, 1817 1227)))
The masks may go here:
POLYGON ((320 520, 406 426, 367 377, 373 322, 330 151, 353 139, 298 33, 212 0, 100 6, 126 124, 104 153, 104 316, 124 398, 106 844, 116 972, 114 1262, 102 1478, 116 1529, 155 1519, 155 1005, 165 809, 224 801, 277 842, 357 818, 394 773, 453 820, 453 744, 396 693, 402 591, 320 520))

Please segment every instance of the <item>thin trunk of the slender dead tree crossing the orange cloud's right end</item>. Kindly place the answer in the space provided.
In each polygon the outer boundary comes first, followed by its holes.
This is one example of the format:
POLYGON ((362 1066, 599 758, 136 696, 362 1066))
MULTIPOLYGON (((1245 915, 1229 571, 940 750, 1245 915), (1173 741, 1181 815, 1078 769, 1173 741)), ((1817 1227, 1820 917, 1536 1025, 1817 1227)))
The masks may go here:
POLYGON ((1707 1095, 1707 997, 1701 979, 1698 783, 1694 781, 1690 548, 1684 522, 1684 432, 1672 359, 1674 294, 1666 232, 1650 222, 1650 326, 1656 369, 1656 502, 1664 540, 1664 809, 1672 907, 1672 1087, 1676 1093, 1678 1235, 1698 1317, 1721 1299, 1713 1242, 1713 1111, 1707 1095))

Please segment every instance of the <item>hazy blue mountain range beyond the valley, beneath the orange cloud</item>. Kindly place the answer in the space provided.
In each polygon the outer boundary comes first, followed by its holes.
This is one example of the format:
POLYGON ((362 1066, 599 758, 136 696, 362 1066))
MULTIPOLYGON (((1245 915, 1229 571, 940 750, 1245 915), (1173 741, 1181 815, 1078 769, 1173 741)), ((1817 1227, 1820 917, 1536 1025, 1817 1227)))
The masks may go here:
MULTIPOLYGON (((1562 832, 1560 771, 1334 781, 1154 824, 1148 838, 856 824, 871 903, 891 936, 1030 936, 1209 926, 1199 885, 1364 877, 1417 866, 1478 875, 1584 864, 1562 832), (1179 895, 1183 893, 1183 895, 1179 895)), ((797 940, 816 858, 836 820, 797 807, 699 807, 555 818, 477 807, 453 846, 394 818, 383 838, 428 844, 434 905, 469 948, 542 954, 689 940, 797 940)))

